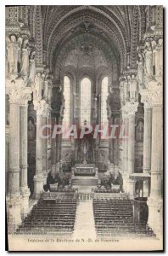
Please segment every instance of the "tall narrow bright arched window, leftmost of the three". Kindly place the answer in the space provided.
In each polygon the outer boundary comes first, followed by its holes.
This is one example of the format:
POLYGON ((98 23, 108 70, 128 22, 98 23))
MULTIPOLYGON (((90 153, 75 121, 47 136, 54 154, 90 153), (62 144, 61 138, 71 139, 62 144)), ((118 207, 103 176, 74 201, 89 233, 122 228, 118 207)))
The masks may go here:
POLYGON ((63 124, 67 128, 70 127, 70 79, 64 77, 64 119, 63 124))

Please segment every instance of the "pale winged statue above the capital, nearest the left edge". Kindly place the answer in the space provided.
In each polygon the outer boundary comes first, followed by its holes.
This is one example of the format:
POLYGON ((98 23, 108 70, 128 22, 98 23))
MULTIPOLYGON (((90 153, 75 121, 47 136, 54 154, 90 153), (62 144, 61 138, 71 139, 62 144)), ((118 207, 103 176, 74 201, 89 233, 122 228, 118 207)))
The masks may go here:
POLYGON ((7 63, 8 63, 8 73, 17 74, 18 73, 18 61, 20 61, 20 38, 17 38, 14 34, 7 38, 7 63))

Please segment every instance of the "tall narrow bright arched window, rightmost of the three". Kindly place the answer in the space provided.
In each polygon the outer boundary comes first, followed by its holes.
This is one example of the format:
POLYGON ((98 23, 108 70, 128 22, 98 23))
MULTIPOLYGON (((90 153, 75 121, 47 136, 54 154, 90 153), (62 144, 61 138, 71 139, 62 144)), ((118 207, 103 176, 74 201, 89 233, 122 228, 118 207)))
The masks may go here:
POLYGON ((108 97, 109 79, 105 77, 101 84, 101 126, 102 128, 109 124, 107 119, 107 97, 108 97))

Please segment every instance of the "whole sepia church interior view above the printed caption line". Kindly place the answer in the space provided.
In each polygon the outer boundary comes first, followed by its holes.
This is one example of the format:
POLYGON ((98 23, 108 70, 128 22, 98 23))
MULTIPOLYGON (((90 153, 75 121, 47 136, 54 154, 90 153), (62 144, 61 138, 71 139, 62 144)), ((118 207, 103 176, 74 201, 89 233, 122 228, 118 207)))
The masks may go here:
POLYGON ((163 8, 5 9, 8 233, 162 236, 163 8))

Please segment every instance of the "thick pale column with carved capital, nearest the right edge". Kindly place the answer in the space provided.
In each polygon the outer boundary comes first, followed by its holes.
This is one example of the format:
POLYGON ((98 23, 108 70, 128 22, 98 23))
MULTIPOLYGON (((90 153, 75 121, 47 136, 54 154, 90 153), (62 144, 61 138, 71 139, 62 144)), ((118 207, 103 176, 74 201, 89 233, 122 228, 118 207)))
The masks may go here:
POLYGON ((149 96, 152 103, 152 155, 151 188, 148 198, 148 225, 156 235, 163 231, 163 88, 153 81, 149 84, 149 96))

